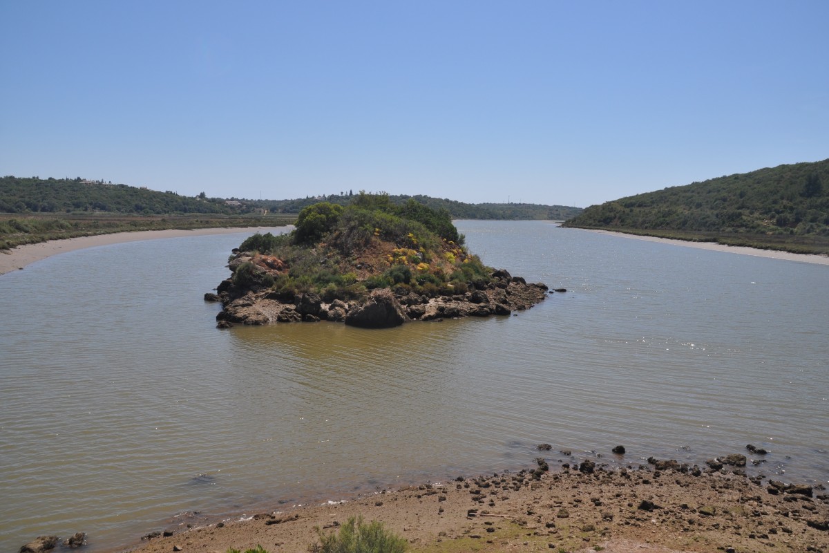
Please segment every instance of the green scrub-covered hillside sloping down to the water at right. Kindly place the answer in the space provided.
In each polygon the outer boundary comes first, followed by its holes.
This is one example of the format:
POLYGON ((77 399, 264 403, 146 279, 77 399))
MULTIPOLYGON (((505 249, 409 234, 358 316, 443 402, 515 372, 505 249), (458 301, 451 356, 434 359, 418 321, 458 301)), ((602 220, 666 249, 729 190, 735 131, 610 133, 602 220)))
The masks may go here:
POLYGON ((829 254, 829 159, 608 201, 564 226, 829 254))

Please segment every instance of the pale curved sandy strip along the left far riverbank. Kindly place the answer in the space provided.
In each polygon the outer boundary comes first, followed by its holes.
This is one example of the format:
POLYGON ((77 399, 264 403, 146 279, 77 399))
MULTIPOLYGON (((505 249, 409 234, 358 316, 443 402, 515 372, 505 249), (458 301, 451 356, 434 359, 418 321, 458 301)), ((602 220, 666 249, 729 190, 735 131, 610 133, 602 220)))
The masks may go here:
POLYGON ((226 235, 250 231, 273 232, 284 227, 250 226, 242 228, 212 228, 193 230, 138 230, 136 232, 116 232, 109 235, 81 236, 67 240, 49 240, 41 244, 27 244, 10 251, 0 251, 0 274, 22 269, 35 261, 45 260, 51 255, 64 254, 67 251, 94 248, 99 245, 123 244, 136 240, 158 240, 159 238, 180 238, 182 236, 226 235))

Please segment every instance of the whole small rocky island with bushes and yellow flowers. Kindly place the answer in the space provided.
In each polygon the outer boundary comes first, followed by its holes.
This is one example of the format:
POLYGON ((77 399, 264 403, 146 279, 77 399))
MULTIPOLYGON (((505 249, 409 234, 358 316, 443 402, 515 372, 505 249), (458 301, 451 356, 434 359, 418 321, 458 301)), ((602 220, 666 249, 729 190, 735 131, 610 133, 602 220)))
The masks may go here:
POLYGON ((255 234, 233 250, 231 275, 206 293, 219 327, 332 321, 395 327, 410 321, 509 315, 548 293, 492 269, 464 245, 449 212, 360 192, 322 201, 284 235, 255 234))

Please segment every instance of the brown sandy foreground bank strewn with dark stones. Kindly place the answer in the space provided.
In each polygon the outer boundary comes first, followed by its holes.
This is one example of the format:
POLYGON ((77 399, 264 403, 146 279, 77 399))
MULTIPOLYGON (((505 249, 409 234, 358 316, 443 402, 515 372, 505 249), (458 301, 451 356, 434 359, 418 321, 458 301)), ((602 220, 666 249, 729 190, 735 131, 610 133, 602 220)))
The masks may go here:
POLYGON ((138 551, 308 551, 318 541, 315 527, 335 531, 359 516, 385 522, 410 551, 829 551, 829 496, 822 488, 769 492, 774 485, 766 480, 707 467, 574 467, 540 475, 464 478, 342 503, 282 506, 191 529, 181 523, 166 529, 172 536, 145 539, 138 551))

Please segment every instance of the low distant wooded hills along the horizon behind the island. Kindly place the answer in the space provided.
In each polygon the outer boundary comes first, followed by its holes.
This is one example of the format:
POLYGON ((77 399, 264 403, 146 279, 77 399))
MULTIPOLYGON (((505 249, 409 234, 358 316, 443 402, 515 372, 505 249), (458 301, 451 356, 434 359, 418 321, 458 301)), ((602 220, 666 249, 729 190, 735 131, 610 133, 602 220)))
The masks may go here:
MULTIPOLYGON (((158 192, 103 181, 74 179, 41 179, 38 177, 0 177, 0 212, 16 214, 77 213, 103 211, 137 215, 168 215, 211 213, 243 215, 262 213, 296 215, 305 207, 328 201, 347 206, 354 194, 341 193, 294 200, 245 200, 179 196, 176 192, 158 192)), ((468 204, 461 201, 429 196, 389 196, 395 205, 410 198, 433 209, 446 209, 455 219, 509 219, 565 221, 578 215, 579 207, 543 206, 538 204, 468 204)))

